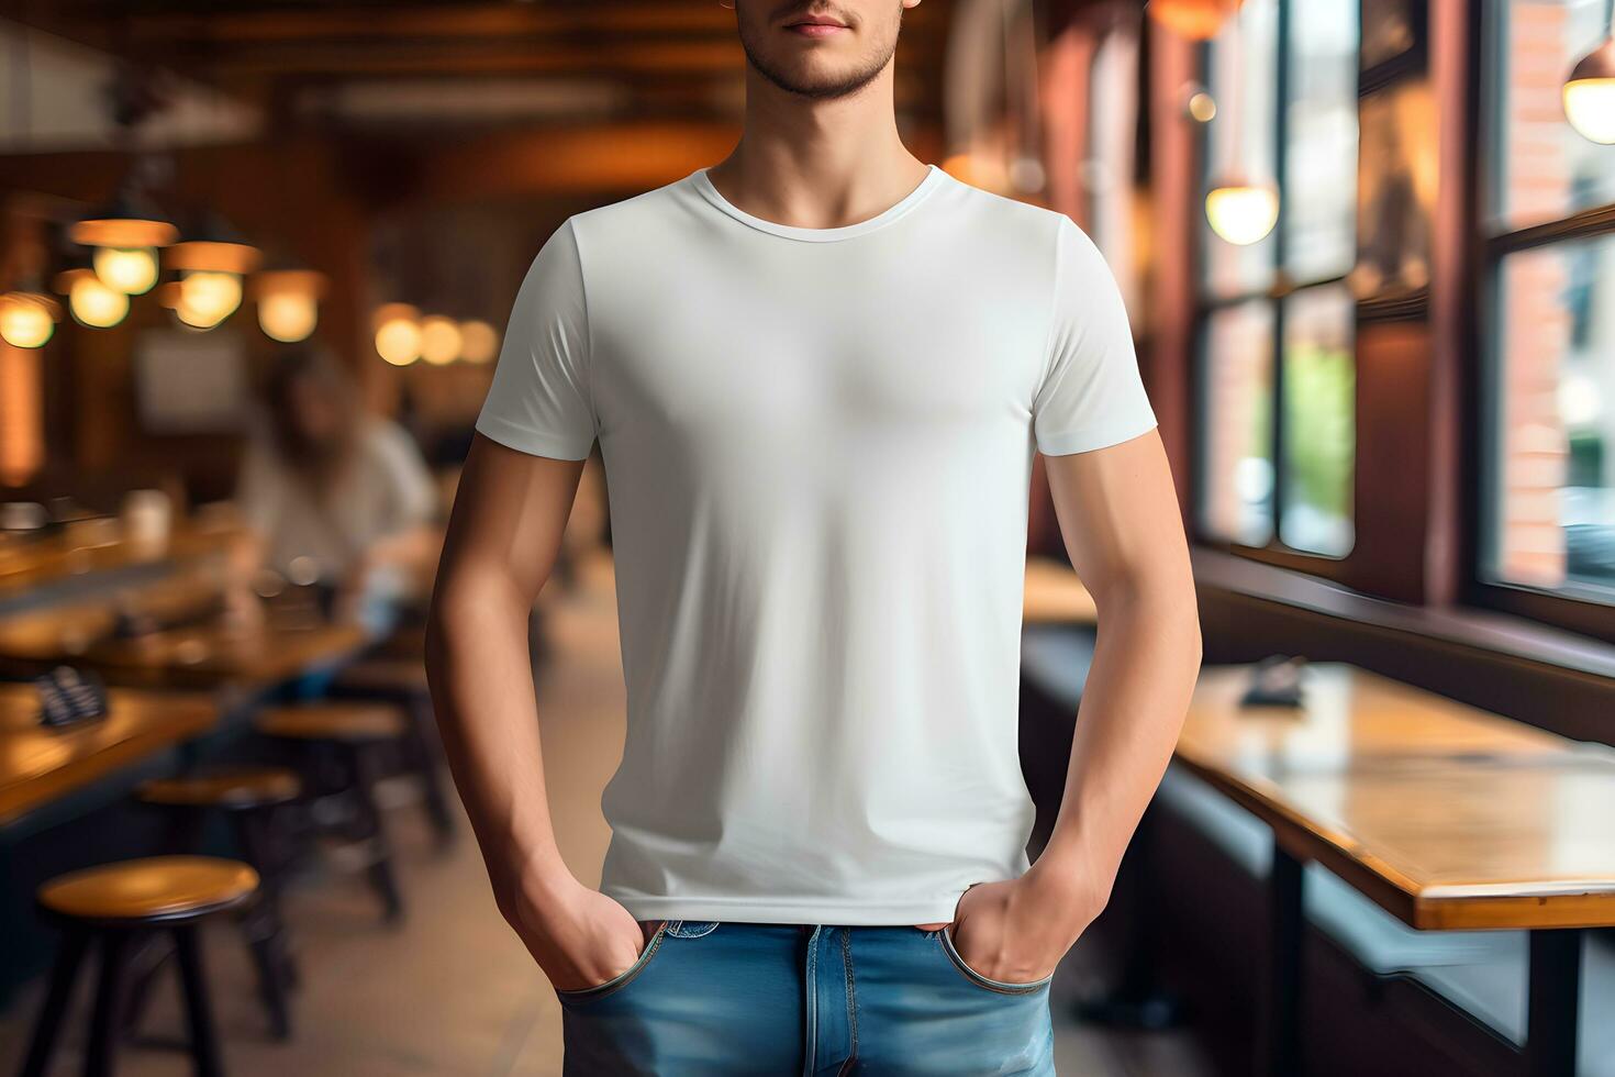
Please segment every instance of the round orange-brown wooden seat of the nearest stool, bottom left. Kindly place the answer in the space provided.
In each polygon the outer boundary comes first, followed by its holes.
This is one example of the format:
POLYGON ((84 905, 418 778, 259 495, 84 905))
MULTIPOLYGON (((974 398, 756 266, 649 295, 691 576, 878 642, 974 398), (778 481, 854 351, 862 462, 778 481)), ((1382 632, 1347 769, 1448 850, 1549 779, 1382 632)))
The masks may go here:
POLYGON ((39 904, 78 920, 160 922, 231 909, 258 874, 215 856, 150 856, 68 872, 39 888, 39 904))

